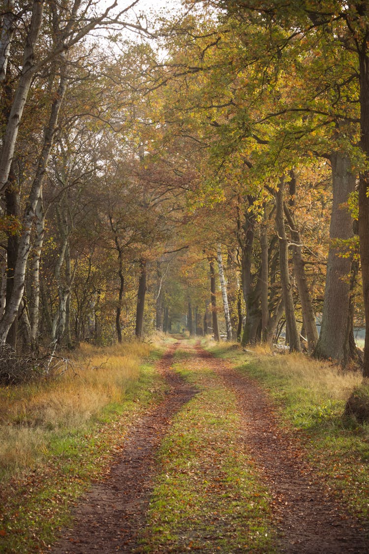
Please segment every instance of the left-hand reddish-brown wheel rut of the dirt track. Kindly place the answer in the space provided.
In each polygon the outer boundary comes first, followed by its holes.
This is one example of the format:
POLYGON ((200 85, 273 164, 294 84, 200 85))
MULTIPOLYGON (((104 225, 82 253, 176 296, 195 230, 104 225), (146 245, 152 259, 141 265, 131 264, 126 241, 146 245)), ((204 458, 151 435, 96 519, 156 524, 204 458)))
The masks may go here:
POLYGON ((157 473, 155 454, 170 419, 196 393, 170 370, 172 346, 158 363, 170 386, 167 398, 129 430, 126 447, 113 465, 110 478, 85 495, 74 512, 74 529, 66 531, 53 548, 54 554, 134 552, 138 533, 145 524, 149 495, 157 473))

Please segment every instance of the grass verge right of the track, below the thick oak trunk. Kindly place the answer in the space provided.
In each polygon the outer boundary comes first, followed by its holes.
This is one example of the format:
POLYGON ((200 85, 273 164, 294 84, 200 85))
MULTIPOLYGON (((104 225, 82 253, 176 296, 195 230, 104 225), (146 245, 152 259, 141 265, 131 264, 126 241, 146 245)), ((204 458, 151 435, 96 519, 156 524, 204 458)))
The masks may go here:
POLYGON ((262 348, 243 352, 234 345, 210 348, 237 371, 256 379, 292 425, 311 463, 352 513, 369 516, 369 425, 342 417, 359 373, 344 373, 329 362, 301 354, 274 355, 262 348))

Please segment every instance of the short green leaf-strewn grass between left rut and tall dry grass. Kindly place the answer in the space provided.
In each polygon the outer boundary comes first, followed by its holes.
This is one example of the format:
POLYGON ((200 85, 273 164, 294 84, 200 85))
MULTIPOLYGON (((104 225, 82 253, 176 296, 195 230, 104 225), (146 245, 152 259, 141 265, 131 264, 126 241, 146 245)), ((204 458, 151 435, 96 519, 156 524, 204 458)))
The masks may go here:
MULTIPOLYGON (((153 358, 157 358, 154 353, 153 358)), ((40 459, 3 480, 0 552, 36 552, 70 523, 70 509, 91 481, 108 472, 129 424, 162 398, 162 378, 147 362, 120 402, 107 404, 84 425, 48 433, 40 459)))

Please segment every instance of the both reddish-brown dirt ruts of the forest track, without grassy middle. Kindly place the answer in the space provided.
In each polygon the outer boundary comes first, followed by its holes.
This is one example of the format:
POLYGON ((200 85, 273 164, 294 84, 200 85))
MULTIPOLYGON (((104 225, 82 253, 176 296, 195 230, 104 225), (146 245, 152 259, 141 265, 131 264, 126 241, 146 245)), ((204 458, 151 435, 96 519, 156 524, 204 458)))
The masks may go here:
MULTIPOLYGON (((131 428, 126 448, 112 467, 110 478, 95 485, 85 496, 76 509, 74 529, 67 531, 51 550, 54 554, 94 551, 164 554, 193 548, 200 552, 228 553, 251 550, 296 554, 369 552, 365 530, 347 514, 344 505, 337 503, 328 486, 319 482, 297 440, 287 430, 281 429, 272 402, 256 383, 233 370, 230 363, 213 357, 199 344, 194 346, 188 341, 170 347, 159 362, 158 370, 170 385, 167 398, 131 428), (184 367, 187 365, 194 372, 202 368, 211 370, 218 385, 236 397, 242 448, 252 456, 258 475, 272 497, 273 524, 279 537, 278 545, 272 550, 216 547, 215 542, 212 546, 209 537, 202 548, 188 547, 178 540, 167 546, 163 542, 156 550, 150 550, 147 510, 156 476, 167 471, 160 468, 155 457, 163 438, 170 433, 171 419, 178 413, 179 420, 181 407, 196 392, 194 386, 184 382, 171 369, 178 347, 186 354, 185 360, 180 362, 184 367), (140 536, 144 537, 145 546, 139 545, 140 536)), ((212 464, 212 460, 209 463, 212 464)), ((202 519, 209 519, 209 514, 202 514, 202 519)), ((219 534, 221 532, 220 529, 219 534)))

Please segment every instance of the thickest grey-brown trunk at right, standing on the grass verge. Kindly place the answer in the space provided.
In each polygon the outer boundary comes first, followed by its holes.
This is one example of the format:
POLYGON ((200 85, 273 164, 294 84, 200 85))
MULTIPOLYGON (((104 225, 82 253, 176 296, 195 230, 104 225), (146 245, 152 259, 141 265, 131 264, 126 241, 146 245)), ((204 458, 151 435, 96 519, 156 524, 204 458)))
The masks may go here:
MULTIPOLYGON (((332 166, 333 204, 329 229, 330 240, 349 239, 353 234, 353 220, 346 207, 349 194, 355 190, 356 178, 351 171, 350 158, 340 152, 330 157, 332 166)), ((351 258, 340 257, 340 249, 330 244, 323 315, 314 356, 332 358, 340 363, 345 358, 347 314, 350 309, 351 258)))

